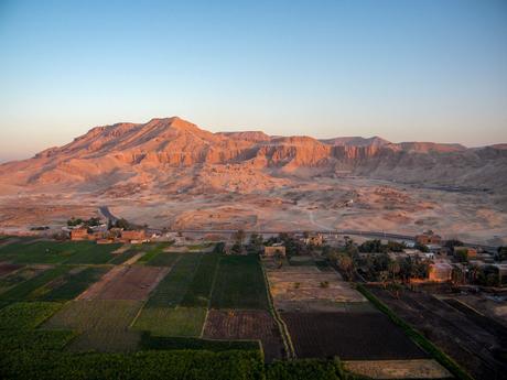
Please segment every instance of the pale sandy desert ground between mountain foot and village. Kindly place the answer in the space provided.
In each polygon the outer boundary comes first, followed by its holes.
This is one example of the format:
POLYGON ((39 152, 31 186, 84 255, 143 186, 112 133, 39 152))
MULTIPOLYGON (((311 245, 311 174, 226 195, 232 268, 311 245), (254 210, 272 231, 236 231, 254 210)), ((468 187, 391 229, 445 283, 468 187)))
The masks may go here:
POLYGON ((107 205, 119 217, 153 228, 177 229, 354 229, 414 235, 433 229, 444 238, 507 243, 507 195, 424 188, 420 185, 344 177, 283 181, 250 192, 174 192, 153 188, 125 195, 20 193, 0 196, 0 230, 58 228, 107 205))

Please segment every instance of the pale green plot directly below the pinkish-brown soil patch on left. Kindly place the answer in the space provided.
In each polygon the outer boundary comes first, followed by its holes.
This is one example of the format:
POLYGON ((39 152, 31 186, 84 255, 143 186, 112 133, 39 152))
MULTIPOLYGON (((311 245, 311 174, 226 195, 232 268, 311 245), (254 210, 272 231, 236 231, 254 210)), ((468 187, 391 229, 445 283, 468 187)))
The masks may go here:
POLYGON ((69 350, 136 350, 141 334, 130 330, 129 326, 141 306, 140 301, 72 301, 43 327, 78 332, 80 335, 71 343, 69 350))

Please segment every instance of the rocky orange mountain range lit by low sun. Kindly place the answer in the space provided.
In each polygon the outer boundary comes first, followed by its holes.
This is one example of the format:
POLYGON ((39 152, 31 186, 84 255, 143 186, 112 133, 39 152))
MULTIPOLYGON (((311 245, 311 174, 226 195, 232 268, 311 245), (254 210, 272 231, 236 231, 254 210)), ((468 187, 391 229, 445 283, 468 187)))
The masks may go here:
POLYGON ((391 143, 378 137, 316 140, 261 131, 212 133, 177 117, 96 127, 73 142, 0 165, 0 184, 57 185, 110 192, 255 191, 288 176, 375 178, 505 189, 505 144, 467 149, 432 142, 391 143), (256 187, 257 186, 257 187, 256 187))

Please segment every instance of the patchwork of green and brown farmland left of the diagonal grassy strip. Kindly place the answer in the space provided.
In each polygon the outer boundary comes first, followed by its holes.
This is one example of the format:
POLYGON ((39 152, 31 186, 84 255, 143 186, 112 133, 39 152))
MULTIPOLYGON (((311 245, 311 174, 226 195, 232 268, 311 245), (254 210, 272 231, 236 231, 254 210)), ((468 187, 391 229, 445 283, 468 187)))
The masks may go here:
POLYGON ((0 246, 0 265, 9 269, 0 273, 0 371, 7 378, 42 373, 37 378, 43 379, 68 370, 73 376, 64 378, 128 378, 125 371, 138 373, 138 363, 179 378, 190 372, 177 360, 195 368, 223 360, 225 369, 217 371, 240 378, 289 379, 288 373, 313 371, 337 379, 341 365, 326 360, 334 356, 368 373, 378 360, 390 361, 400 372, 406 359, 411 362, 407 368, 419 362, 441 369, 334 270, 317 267, 315 260, 292 260, 294 265, 288 261, 277 269, 256 254, 169 248, 25 239, 0 246), (288 339, 295 358, 312 360, 277 361, 291 350, 288 339), (89 351, 95 354, 84 354, 89 351), (227 361, 231 358, 241 366, 227 361), (125 369, 105 374, 97 367, 105 362, 125 369))

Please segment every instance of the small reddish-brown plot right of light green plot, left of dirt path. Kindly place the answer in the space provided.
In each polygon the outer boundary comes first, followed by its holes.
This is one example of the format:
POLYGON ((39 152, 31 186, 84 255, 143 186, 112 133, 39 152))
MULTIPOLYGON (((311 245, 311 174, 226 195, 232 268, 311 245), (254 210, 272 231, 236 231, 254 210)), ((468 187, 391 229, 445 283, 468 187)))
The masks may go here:
POLYGON ((283 341, 267 311, 209 311, 205 338, 260 340, 267 361, 283 358, 283 341))

